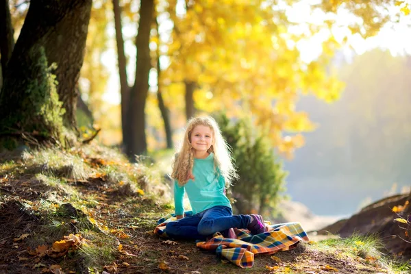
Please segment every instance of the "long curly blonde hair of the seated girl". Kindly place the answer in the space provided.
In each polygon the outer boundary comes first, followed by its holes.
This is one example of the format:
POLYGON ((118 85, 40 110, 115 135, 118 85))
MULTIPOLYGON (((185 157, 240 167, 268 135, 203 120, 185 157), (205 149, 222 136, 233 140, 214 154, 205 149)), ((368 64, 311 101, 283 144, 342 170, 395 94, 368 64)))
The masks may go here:
POLYGON ((191 146, 190 136, 197 125, 208 126, 212 130, 213 142, 208 153, 214 153, 214 171, 217 172, 218 168, 220 175, 225 179, 225 186, 230 186, 238 175, 232 162, 229 146, 221 135, 219 125, 210 116, 191 118, 188 121, 184 139, 174 156, 171 177, 177 180, 179 186, 184 186, 188 182, 194 165, 194 149, 191 146))

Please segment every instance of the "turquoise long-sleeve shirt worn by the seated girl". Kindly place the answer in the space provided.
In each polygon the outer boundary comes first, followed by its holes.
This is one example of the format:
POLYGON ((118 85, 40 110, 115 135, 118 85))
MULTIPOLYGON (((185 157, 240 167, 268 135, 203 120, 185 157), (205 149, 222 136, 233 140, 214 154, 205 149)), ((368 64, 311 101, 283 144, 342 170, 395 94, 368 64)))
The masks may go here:
POLYGON ((179 186, 174 181, 174 206, 175 214, 184 213, 183 197, 187 192, 192 214, 208 210, 214 206, 227 206, 232 208, 229 199, 225 196, 224 177, 214 171, 214 154, 210 153, 205 159, 194 159, 192 166, 194 181, 189 179, 184 186, 179 186))

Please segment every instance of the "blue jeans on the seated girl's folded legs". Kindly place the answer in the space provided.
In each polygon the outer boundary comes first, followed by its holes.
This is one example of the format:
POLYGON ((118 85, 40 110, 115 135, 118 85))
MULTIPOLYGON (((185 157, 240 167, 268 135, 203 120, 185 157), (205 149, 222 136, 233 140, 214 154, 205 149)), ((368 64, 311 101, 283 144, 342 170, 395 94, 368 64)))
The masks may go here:
POLYGON ((167 223, 166 234, 175 239, 204 240, 216 232, 224 232, 231 227, 247 228, 249 215, 233 215, 227 206, 214 206, 192 216, 167 223))

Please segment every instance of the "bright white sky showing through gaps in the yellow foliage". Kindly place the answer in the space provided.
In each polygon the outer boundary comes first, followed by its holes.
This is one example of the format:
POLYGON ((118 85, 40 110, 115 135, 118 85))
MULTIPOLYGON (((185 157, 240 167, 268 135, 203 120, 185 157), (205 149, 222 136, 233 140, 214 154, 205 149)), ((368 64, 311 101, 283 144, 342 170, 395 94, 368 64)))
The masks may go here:
MULTIPOLYGON (((288 9, 288 18, 290 21, 295 23, 314 23, 321 25, 324 18, 327 16, 323 12, 311 12, 310 3, 315 0, 301 1, 295 4, 292 8, 288 9)), ((397 7, 395 7, 397 8, 397 7)), ((177 6, 177 13, 184 12, 177 6)), ((331 29, 334 38, 341 42, 345 36, 348 36, 347 42, 351 45, 352 49, 349 47, 344 47, 341 49, 346 56, 346 58, 351 58, 354 53, 362 54, 365 51, 369 51, 375 48, 388 49, 393 55, 403 55, 411 54, 411 16, 401 18, 400 23, 388 24, 384 26, 377 36, 372 38, 367 38, 364 40, 359 34, 350 35, 349 29, 345 27, 347 21, 356 20, 351 14, 345 10, 340 10, 338 16, 336 17, 336 25, 339 27, 333 27, 331 29)), ((160 36, 167 36, 171 29, 171 23, 167 23, 165 20, 161 23, 160 20, 160 36)), ((300 25, 299 27, 290 28, 290 32, 303 33, 306 32, 308 27, 300 25)), ((125 39, 133 38, 136 36, 136 24, 126 25, 123 27, 123 36, 125 39)), ((297 42, 297 49, 301 52, 301 59, 304 62, 310 62, 319 57, 322 53, 321 43, 326 40, 330 35, 330 31, 323 29, 310 40, 301 40, 297 42)), ((103 100, 112 103, 119 104, 121 101, 120 88, 119 88, 119 71, 116 66, 117 64, 117 52, 115 45, 115 33, 114 26, 111 25, 108 28, 108 36, 110 39, 110 45, 108 45, 108 50, 103 54, 102 62, 110 73, 110 78, 108 80, 107 88, 103 94, 103 100)), ((129 55, 129 65, 127 67, 127 73, 129 76, 129 84, 133 84, 134 70, 135 70, 135 60, 136 60, 136 49, 130 39, 125 43, 125 51, 129 55)), ((162 58, 162 64, 166 64, 166 58, 162 58)), ((156 86, 156 75, 155 71, 150 73, 150 86, 156 86)))

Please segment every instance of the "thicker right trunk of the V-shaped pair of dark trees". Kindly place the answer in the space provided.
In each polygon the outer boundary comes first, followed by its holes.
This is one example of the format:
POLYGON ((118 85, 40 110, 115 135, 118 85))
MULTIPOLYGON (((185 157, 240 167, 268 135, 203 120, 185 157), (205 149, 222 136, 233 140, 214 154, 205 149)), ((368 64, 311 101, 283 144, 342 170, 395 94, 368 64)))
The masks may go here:
POLYGON ((149 91, 149 71, 151 68, 149 42, 153 11, 154 0, 141 0, 140 22, 136 39, 136 80, 130 93, 129 115, 127 116, 127 119, 129 119, 127 127, 130 129, 131 142, 126 153, 130 158, 147 152, 145 103, 149 91))

